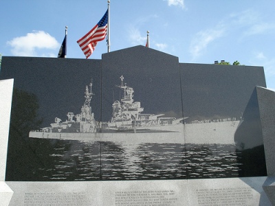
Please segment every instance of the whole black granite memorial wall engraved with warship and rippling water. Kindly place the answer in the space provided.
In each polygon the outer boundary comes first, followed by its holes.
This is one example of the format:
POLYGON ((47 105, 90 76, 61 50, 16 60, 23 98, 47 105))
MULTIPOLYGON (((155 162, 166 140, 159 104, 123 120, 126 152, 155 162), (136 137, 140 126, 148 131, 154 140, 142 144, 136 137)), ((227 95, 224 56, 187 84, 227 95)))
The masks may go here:
MULTIPOLYGON (((4 56, 0 79, 7 78, 14 78, 14 95, 6 181, 264 175, 264 163, 255 166, 248 158, 261 159, 263 148, 248 148, 245 143, 251 136, 246 131, 252 127, 262 142, 259 104, 253 91, 257 85, 265 87, 263 67, 179 63, 176 56, 137 46, 103 54, 102 60, 4 56), (144 111, 143 116, 131 115, 128 125, 120 122, 122 126, 115 127, 109 123, 113 103, 124 96, 117 87, 122 84, 121 76, 123 86, 133 88, 133 100, 144 111), (39 133, 43 134, 40 138, 29 137, 30 130, 50 126, 55 117, 65 122, 68 112, 79 114, 91 78, 96 133, 85 134, 87 138, 80 141, 78 128, 65 124, 74 129, 70 140, 61 139, 63 134, 57 129, 39 133), (154 115, 164 118, 146 119, 154 115), (184 125, 179 120, 183 116, 188 117, 184 125), (168 117, 179 124, 170 125, 168 117), (163 125, 157 127, 157 120, 163 125), (52 139, 46 139, 49 135, 52 139)), ((127 109, 132 111, 135 106, 127 109)))

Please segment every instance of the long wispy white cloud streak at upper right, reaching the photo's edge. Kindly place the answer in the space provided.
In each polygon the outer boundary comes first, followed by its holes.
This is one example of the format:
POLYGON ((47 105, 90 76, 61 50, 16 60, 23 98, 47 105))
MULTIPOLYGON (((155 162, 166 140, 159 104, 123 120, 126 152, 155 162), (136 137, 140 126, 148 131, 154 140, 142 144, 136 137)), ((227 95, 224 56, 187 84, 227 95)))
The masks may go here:
POLYGON ((203 54, 210 43, 225 35, 231 38, 237 35, 234 37, 235 41, 236 39, 248 41, 248 36, 263 35, 268 32, 275 33, 275 23, 263 21, 259 13, 254 10, 233 13, 217 22, 216 26, 197 32, 190 43, 190 54, 192 60, 195 60, 203 54))

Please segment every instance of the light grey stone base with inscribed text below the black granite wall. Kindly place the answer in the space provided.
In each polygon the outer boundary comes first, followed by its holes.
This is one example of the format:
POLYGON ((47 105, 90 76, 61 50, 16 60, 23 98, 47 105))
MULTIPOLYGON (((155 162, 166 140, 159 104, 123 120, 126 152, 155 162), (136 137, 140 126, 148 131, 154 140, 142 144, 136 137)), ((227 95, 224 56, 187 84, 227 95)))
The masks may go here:
MULTIPOLYGON (((272 205, 266 176, 98 182, 6 182, 10 205, 272 205), (264 189, 263 189, 264 188, 264 189), (265 191, 267 191, 267 195, 265 191)), ((274 187, 272 186, 274 189, 274 187)), ((273 192, 274 194, 274 192, 273 192)))

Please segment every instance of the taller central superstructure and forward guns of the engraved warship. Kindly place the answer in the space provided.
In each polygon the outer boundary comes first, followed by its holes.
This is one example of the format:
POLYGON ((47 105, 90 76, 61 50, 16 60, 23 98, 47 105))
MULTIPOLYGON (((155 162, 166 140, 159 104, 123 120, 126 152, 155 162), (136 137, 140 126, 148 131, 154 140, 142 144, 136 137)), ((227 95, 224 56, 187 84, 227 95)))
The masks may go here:
POLYGON ((123 91, 123 97, 120 101, 113 103, 113 115, 110 122, 102 123, 102 130, 118 130, 137 132, 139 130, 175 130, 175 126, 182 124, 184 118, 163 117, 164 114, 153 115, 143 114, 144 108, 140 102, 133 100, 133 88, 124 83, 124 77, 120 76, 121 84, 119 86, 123 91), (170 129, 168 128, 170 127, 170 129), (174 129, 173 129, 174 127, 174 129), (158 128, 158 129, 157 129, 158 128))

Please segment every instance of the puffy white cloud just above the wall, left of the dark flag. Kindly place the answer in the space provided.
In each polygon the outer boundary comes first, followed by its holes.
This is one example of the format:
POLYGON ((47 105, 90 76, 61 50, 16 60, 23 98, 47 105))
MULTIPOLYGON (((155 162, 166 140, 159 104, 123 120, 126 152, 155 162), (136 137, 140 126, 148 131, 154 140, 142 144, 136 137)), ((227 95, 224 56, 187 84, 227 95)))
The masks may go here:
MULTIPOLYGON (((12 47, 14 56, 53 56, 52 52, 47 50, 58 49, 61 46, 54 37, 43 31, 33 31, 25 36, 13 38, 7 43, 12 47)), ((57 54, 56 50, 55 56, 57 54)))

